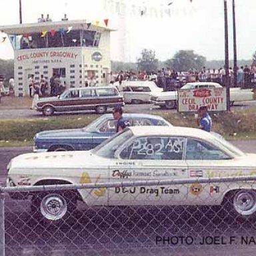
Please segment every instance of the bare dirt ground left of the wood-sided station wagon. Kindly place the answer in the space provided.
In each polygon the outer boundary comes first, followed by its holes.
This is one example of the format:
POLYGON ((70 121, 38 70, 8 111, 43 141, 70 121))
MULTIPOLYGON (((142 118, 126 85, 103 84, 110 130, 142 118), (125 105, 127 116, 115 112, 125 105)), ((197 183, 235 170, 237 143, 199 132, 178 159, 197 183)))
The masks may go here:
POLYGON ((30 97, 14 97, 5 96, 1 97, 0 110, 1 109, 29 109, 32 104, 30 97))

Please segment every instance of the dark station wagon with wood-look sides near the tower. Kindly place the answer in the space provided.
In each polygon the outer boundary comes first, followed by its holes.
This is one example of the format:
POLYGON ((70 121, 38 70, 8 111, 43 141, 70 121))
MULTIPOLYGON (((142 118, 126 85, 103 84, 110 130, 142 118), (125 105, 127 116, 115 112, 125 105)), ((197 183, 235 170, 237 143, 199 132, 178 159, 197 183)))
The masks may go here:
POLYGON ((53 115, 58 111, 89 109, 103 114, 110 107, 123 105, 123 97, 115 87, 79 87, 69 88, 57 97, 39 99, 36 109, 43 115, 53 115))

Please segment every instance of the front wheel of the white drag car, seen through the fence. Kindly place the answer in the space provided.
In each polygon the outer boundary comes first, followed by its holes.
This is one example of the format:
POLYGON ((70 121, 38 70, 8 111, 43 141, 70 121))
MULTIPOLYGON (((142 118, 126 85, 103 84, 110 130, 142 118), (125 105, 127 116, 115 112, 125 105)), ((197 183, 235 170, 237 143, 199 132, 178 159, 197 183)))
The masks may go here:
POLYGON ((47 195, 41 201, 41 213, 49 220, 61 219, 67 213, 67 201, 61 195, 47 195))

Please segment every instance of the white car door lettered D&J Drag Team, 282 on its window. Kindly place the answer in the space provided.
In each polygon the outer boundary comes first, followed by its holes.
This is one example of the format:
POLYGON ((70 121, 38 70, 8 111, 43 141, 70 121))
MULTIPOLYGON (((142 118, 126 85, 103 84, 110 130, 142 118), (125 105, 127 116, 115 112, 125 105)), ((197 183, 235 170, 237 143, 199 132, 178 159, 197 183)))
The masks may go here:
MULTIPOLYGON (((181 137, 138 137, 127 141, 109 166, 110 181, 175 180, 188 177, 181 137)), ((109 205, 182 205, 187 187, 160 185, 115 187, 109 190, 109 205)))

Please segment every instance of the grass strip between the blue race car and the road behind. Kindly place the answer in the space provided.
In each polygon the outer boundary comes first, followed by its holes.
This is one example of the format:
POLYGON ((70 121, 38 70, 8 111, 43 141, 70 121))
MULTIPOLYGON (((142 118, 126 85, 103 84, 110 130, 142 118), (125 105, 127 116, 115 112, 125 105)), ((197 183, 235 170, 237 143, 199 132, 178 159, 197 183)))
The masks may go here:
MULTIPOLYGON (((176 126, 198 127, 197 119, 191 114, 169 111, 155 114, 161 115, 176 126)), ((256 139, 256 111, 254 109, 211 114, 211 116, 213 131, 220 133, 226 139, 256 139)), ((97 117, 99 115, 0 120, 0 147, 32 145, 33 136, 39 131, 82 128, 97 117)))

